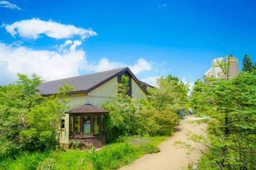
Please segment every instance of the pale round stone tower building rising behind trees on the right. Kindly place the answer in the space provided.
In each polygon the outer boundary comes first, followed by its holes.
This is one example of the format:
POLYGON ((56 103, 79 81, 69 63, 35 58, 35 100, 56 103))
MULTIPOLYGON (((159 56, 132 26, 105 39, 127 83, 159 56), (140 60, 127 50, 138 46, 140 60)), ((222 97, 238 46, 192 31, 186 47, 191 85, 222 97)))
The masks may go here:
MULTIPOLYGON (((209 71, 207 71, 204 74, 204 82, 208 82, 207 77, 227 79, 227 76, 223 74, 221 67, 215 67, 215 65, 218 65, 218 62, 220 61, 227 62, 227 57, 212 59, 212 67, 209 69, 209 71)), ((233 57, 232 54, 230 57, 230 62, 231 64, 230 64, 229 76, 230 78, 232 78, 234 76, 238 76, 239 65, 238 65, 238 59, 236 57, 233 57)))

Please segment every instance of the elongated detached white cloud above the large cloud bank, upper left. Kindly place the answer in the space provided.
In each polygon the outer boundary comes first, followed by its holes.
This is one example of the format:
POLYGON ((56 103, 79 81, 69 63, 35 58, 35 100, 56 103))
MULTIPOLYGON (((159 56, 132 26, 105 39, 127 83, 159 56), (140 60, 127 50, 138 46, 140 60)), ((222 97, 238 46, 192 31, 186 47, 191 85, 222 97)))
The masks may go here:
POLYGON ((41 34, 56 39, 79 36, 81 40, 97 35, 91 28, 78 28, 73 25, 65 25, 52 20, 43 21, 38 18, 17 21, 11 25, 6 24, 5 28, 12 37, 19 34, 20 37, 32 40, 38 39, 41 37, 41 34))

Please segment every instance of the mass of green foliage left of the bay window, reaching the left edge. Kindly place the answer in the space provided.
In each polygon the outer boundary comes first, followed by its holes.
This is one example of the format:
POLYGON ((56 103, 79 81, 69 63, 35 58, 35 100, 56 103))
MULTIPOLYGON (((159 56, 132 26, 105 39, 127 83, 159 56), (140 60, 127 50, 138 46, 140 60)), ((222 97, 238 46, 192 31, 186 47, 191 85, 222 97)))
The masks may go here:
POLYGON ((42 97, 36 89, 43 80, 17 74, 16 83, 0 88, 0 160, 15 159, 24 150, 51 150, 58 144, 58 127, 73 87, 64 84, 55 95, 42 97))

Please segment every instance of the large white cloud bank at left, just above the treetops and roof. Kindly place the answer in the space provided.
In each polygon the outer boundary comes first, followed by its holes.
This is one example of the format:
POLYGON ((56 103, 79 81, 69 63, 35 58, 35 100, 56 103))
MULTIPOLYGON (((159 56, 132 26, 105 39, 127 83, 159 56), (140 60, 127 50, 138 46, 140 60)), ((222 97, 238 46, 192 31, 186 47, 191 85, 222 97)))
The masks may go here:
POLYGON ((36 73, 47 81, 78 76, 80 62, 87 62, 85 51, 59 54, 55 51, 38 51, 0 43, 0 85, 14 81, 17 72, 28 75, 36 73), (4 77, 10 79, 5 81, 4 77))

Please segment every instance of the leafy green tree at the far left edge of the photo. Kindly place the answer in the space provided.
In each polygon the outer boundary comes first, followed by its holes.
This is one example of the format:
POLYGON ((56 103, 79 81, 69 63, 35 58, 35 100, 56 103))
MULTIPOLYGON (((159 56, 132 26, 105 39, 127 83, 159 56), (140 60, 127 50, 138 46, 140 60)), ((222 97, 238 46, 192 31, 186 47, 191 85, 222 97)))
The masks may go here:
POLYGON ((43 82, 41 77, 36 74, 32 74, 32 79, 25 74, 17 76, 16 83, 0 88, 0 157, 21 147, 19 133, 28 126, 26 115, 38 105, 41 97, 35 90, 43 82))

